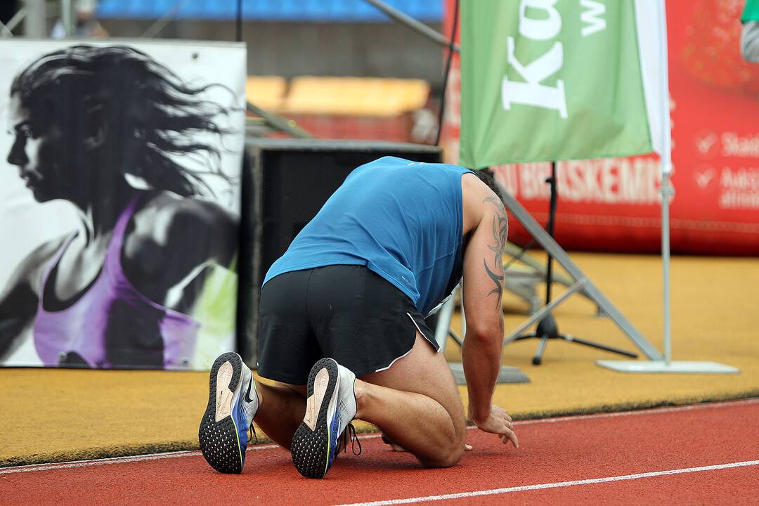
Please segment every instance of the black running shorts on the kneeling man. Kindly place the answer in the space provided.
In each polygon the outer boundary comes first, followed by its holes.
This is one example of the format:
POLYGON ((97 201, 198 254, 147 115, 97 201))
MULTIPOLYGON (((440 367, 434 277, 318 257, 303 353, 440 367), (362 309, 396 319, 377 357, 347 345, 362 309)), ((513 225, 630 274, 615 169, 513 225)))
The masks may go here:
POLYGON ((285 272, 261 291, 258 373, 305 385, 317 360, 331 357, 356 376, 388 369, 433 332, 406 294, 365 266, 285 272))

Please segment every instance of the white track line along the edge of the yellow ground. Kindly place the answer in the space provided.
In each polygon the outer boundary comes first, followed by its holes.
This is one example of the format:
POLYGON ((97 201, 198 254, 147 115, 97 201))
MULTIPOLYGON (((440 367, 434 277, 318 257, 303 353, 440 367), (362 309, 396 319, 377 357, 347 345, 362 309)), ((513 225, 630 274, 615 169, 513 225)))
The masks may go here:
MULTIPOLYGON (((635 411, 620 411, 617 413, 596 413, 592 415, 577 415, 577 416, 557 416, 556 418, 543 418, 540 420, 521 420, 514 423, 515 426, 533 425, 536 423, 559 423, 559 422, 572 422, 575 420, 594 420, 596 418, 613 418, 617 416, 635 416, 635 415, 647 415, 656 413, 672 413, 676 411, 690 411, 690 410, 704 410, 713 409, 719 407, 731 407, 741 406, 744 404, 759 404, 759 398, 742 399, 740 401, 724 401, 724 402, 711 402, 706 404, 691 404, 688 406, 674 406, 674 407, 657 407, 648 410, 635 410, 635 411)), ((468 426, 467 429, 476 429, 474 426, 468 426)), ((379 438, 380 434, 362 435, 361 439, 373 439, 379 438)), ((271 450, 273 448, 279 448, 279 445, 254 445, 249 446, 247 451, 255 450, 271 450)), ((30 464, 27 466, 17 467, 5 467, 0 468, 0 475, 10 473, 30 473, 32 471, 46 471, 55 469, 68 469, 70 467, 88 467, 88 466, 104 466, 106 464, 128 464, 131 462, 140 462, 142 460, 161 460, 167 458, 178 457, 195 457, 200 455, 200 450, 187 450, 187 451, 170 451, 162 454, 145 454, 134 455, 130 457, 109 457, 102 459, 90 459, 90 460, 73 460, 70 462, 61 462, 58 464, 30 464)))

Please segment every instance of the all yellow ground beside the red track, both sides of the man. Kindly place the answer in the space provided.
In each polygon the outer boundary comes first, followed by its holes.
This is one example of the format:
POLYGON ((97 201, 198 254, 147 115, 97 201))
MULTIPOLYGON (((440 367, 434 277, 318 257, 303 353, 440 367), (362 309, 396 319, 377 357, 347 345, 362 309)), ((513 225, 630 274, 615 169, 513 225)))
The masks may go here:
MULTIPOLYGON (((657 256, 572 253, 572 259, 658 349, 662 342, 661 261, 657 256)), ((558 295, 562 287, 556 286, 558 295)), ((507 294, 507 331, 524 304, 507 294)), ((646 375, 595 365, 613 354, 550 341, 532 366, 537 339, 509 344, 504 363, 531 383, 498 385, 496 403, 525 418, 759 395, 759 262, 672 259, 675 360, 712 360, 739 375, 646 375)), ((574 295, 556 310, 562 332, 635 350, 608 318, 574 295)), ((458 329, 458 322, 454 322, 458 329)), ((460 360, 454 344, 449 360, 460 360)), ((623 359, 624 357, 619 357, 623 359)), ((466 388, 460 388, 466 404, 466 388)), ((207 372, 0 369, 0 466, 198 448, 208 401, 207 372)), ((358 423, 364 432, 370 424, 358 423)), ((260 433, 260 432, 259 432, 260 433)), ((260 441, 265 439, 260 438, 260 441)))

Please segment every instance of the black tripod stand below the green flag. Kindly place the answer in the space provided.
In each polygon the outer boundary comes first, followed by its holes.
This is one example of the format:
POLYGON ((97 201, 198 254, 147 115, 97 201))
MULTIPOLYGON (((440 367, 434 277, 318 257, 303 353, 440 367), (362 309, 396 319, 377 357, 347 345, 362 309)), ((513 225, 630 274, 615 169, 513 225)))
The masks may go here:
MULTIPOLYGON (((548 234, 553 239, 553 232, 556 226, 556 201, 558 200, 558 195, 556 192, 556 162, 551 162, 551 177, 546 179, 546 183, 550 185, 551 190, 550 205, 548 210, 548 225, 546 226, 546 229, 548 231, 548 234)), ((546 306, 551 303, 552 275, 553 256, 548 253, 548 258, 546 260, 546 306)), ((573 335, 562 334, 559 332, 559 325, 556 323, 556 318, 554 318, 553 314, 551 313, 546 313, 546 316, 543 316, 543 318, 540 319, 540 322, 537 324, 537 328, 535 328, 535 332, 531 334, 518 335, 517 337, 513 338, 512 341, 521 341, 522 339, 530 338, 540 338, 540 343, 537 345, 535 355, 532 357, 532 363, 535 366, 539 366, 543 361, 543 353, 546 350, 546 344, 548 344, 549 339, 563 339, 564 341, 584 344, 585 346, 598 348, 604 351, 610 351, 612 353, 624 355, 625 357, 638 357, 638 354, 631 353, 630 351, 620 350, 619 348, 606 346, 605 344, 585 341, 581 338, 575 338, 573 335)))

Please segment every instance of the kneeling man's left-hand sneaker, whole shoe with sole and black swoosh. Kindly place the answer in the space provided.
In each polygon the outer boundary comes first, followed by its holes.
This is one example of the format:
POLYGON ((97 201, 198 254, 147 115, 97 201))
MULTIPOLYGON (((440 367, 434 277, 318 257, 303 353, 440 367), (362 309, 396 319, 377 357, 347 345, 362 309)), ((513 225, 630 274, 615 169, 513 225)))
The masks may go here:
POLYGON ((220 473, 242 473, 247 431, 259 404, 253 372, 240 355, 226 353, 213 363, 209 382, 208 407, 198 429, 200 449, 220 473))

